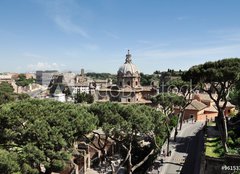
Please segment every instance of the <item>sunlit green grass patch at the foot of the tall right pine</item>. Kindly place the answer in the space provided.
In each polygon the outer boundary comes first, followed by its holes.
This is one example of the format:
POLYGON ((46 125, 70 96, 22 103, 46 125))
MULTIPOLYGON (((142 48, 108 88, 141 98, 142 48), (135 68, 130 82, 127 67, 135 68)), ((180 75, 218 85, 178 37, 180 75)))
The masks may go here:
POLYGON ((220 158, 224 154, 224 149, 220 138, 207 138, 205 155, 214 158, 220 158))

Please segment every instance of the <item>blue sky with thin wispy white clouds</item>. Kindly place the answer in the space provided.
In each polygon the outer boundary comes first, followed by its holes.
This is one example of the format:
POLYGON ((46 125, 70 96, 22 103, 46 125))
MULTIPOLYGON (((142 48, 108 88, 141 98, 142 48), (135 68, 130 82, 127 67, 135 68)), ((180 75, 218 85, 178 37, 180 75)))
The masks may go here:
POLYGON ((143 73, 240 57, 239 0, 1 0, 0 72, 143 73))

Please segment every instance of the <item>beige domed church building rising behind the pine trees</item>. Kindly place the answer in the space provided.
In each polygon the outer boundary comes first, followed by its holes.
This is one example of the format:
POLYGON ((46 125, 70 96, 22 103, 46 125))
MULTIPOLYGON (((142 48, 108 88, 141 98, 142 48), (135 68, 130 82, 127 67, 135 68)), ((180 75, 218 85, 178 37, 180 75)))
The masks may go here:
POLYGON ((150 96, 157 94, 157 88, 141 86, 140 79, 140 71, 132 63, 132 55, 128 51, 125 63, 117 71, 117 84, 97 90, 98 101, 151 103, 150 96))

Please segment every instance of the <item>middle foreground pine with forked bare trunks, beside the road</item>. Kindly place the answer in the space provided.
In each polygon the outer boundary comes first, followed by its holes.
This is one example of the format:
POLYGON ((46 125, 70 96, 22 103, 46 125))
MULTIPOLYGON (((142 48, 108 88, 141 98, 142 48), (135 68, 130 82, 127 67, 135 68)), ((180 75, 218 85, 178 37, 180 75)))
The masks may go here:
POLYGON ((127 166, 128 173, 136 171, 150 156, 157 153, 166 138, 161 126, 163 116, 154 108, 97 103, 91 105, 90 111, 98 117, 99 127, 102 127, 105 134, 122 147, 124 160, 120 167, 127 166), (148 145, 141 145, 144 142, 148 145))

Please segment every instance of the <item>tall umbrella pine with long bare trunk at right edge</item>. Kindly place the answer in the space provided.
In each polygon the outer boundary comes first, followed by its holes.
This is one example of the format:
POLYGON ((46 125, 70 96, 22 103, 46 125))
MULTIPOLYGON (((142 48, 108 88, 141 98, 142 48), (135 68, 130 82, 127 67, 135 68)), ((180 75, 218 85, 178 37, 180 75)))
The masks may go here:
POLYGON ((225 152, 227 147, 227 122, 224 110, 228 102, 228 94, 231 87, 240 77, 240 59, 229 58, 215 62, 206 62, 201 65, 191 67, 184 73, 183 79, 192 80, 194 84, 199 84, 201 90, 208 93, 210 98, 216 104, 218 116, 216 123, 221 133, 221 139, 225 152), (217 94, 217 98, 213 96, 217 94), (223 105, 220 103, 223 102, 223 105))

